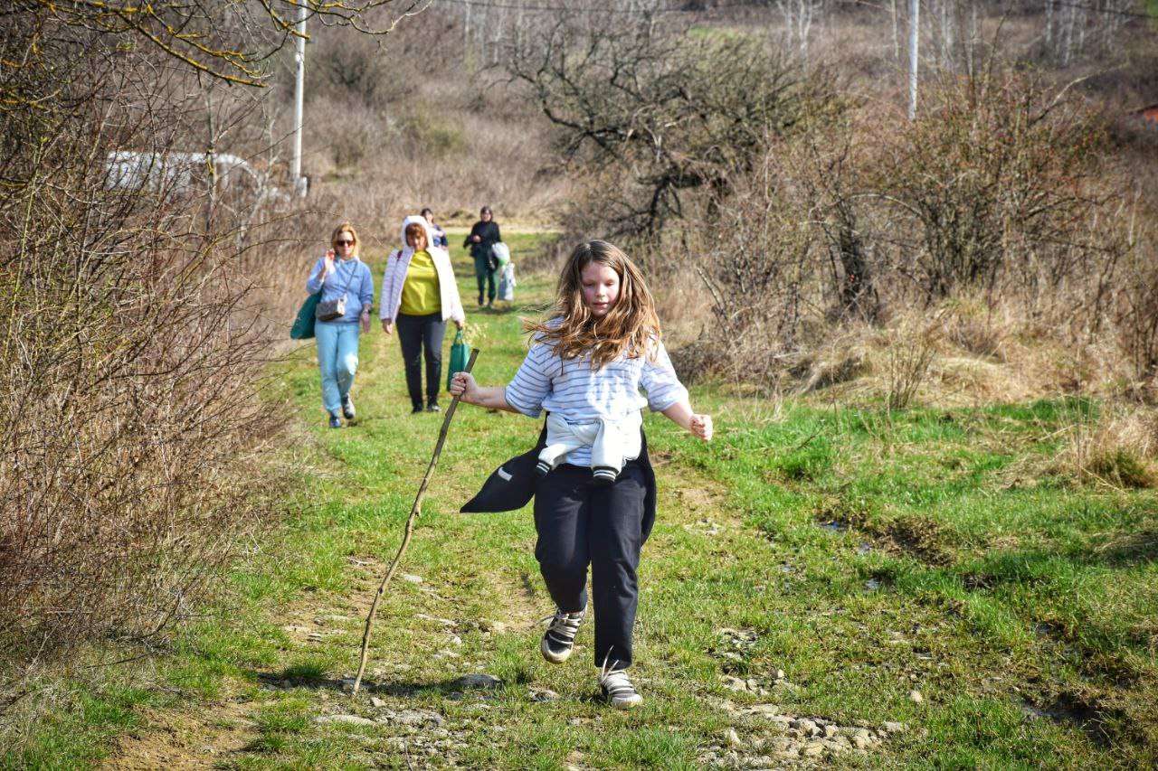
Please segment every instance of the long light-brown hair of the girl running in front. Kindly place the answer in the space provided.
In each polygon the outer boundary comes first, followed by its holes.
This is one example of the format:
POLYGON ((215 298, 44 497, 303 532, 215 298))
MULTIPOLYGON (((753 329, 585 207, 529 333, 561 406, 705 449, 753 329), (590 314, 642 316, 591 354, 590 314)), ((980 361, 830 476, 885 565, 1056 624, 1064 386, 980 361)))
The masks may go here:
POLYGON ((643 273, 618 247, 606 241, 580 243, 571 252, 559 277, 555 307, 548 321, 528 323, 560 359, 591 355, 593 369, 621 355, 650 354, 660 338, 659 317, 643 273), (592 263, 607 265, 620 277, 620 296, 602 318, 582 301, 582 271, 592 263))

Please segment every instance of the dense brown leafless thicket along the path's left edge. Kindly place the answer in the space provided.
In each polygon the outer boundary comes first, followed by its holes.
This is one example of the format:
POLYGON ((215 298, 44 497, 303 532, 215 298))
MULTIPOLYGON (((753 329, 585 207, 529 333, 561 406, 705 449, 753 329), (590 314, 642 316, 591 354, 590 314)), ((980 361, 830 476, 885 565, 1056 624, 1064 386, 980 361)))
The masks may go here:
POLYGON ((28 184, 0 207, 10 663, 94 634, 149 637, 186 614, 251 520, 239 475, 271 426, 242 277, 193 236, 183 191, 105 188, 105 148, 144 132, 94 112, 41 134, 51 150, 14 164, 28 184))

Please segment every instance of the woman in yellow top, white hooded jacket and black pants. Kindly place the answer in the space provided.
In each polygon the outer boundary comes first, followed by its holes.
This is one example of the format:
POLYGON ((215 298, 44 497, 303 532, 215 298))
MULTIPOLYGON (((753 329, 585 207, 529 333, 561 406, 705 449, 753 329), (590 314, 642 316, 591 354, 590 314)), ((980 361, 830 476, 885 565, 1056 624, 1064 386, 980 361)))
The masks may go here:
POLYGON ((408 216, 402 222, 401 249, 386 260, 379 315, 382 331, 398 326, 402 361, 406 370, 411 413, 423 411, 423 352, 426 353, 426 411, 438 412, 442 379, 442 337, 446 322, 459 329, 466 322, 459 285, 454 280, 450 254, 435 247, 430 222, 408 216))

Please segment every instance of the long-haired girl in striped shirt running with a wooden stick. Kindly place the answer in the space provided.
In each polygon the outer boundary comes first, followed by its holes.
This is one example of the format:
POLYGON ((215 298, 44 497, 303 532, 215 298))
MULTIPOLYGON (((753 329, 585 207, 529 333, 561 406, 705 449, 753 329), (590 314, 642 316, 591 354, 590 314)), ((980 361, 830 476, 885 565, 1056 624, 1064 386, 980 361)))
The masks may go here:
POLYGON ((557 607, 540 649, 552 663, 571 655, 591 565, 599 683, 613 706, 631 707, 643 702, 625 671, 639 600, 636 570, 654 519, 640 410, 662 412, 704 441, 712 420, 691 411, 660 342, 651 292, 617 247, 576 247, 551 317, 529 331, 530 351, 510 384, 484 388, 459 373, 450 392, 533 418, 548 412, 535 450, 538 476, 526 483, 535 493, 535 558, 557 607))

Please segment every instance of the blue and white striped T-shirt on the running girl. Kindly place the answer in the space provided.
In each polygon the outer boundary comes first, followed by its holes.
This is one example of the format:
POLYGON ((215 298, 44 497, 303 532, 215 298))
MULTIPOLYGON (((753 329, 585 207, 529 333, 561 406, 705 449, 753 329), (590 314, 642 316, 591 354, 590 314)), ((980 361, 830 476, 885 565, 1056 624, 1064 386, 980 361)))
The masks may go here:
MULTIPOLYGON (((572 425, 618 421, 645 406, 661 412, 687 401, 688 389, 680 383, 664 344, 655 345, 654 357, 620 357, 594 370, 591 357, 563 360, 536 340, 506 387, 507 404, 532 418, 547 410, 572 425)), ((591 465, 591 448, 572 450, 565 460, 591 465)))

